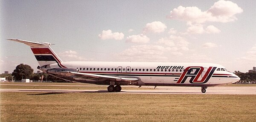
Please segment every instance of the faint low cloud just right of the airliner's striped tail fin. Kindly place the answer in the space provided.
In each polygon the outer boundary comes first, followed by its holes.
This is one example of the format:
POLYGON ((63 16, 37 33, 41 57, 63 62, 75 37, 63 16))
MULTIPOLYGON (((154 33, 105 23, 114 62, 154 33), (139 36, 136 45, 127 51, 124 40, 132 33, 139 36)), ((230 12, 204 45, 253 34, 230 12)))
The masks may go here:
POLYGON ((64 52, 60 52, 59 55, 61 58, 64 58, 65 61, 85 61, 86 59, 78 56, 78 53, 76 51, 64 51, 64 52))

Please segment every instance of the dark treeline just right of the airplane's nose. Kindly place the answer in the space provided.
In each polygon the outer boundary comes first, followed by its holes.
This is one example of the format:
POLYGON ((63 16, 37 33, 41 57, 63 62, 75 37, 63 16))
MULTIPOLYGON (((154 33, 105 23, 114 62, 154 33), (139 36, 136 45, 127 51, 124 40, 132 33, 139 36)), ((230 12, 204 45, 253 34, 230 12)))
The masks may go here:
POLYGON ((249 81, 256 81, 256 72, 251 73, 242 73, 240 71, 235 71, 235 74, 239 76, 240 81, 249 82, 249 81))

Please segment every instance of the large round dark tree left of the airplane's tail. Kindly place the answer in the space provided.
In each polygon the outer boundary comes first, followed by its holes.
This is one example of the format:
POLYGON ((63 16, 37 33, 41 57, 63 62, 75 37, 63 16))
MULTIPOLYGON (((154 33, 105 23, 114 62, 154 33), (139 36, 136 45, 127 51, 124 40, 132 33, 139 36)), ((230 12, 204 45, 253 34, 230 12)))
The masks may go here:
POLYGON ((13 70, 12 76, 14 76, 15 80, 29 79, 33 73, 33 69, 29 65, 19 64, 16 69, 13 70))

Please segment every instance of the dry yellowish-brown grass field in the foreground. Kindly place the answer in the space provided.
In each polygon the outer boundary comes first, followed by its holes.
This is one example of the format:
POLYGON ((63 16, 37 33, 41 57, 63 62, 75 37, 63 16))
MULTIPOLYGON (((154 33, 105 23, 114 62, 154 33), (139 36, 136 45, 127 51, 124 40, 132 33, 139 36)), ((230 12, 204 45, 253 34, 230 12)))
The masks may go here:
POLYGON ((256 95, 1 92, 1 122, 253 122, 256 95))

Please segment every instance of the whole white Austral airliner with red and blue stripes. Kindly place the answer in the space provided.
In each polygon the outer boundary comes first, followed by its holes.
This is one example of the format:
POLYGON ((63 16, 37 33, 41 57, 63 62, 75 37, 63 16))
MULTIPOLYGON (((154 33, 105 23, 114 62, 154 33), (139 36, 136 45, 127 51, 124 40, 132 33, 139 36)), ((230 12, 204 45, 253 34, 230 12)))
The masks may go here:
POLYGON ((64 62, 47 42, 7 39, 30 46, 39 70, 70 82, 109 85, 108 92, 120 92, 121 85, 207 87, 240 80, 225 67, 212 63, 171 62, 64 62))

